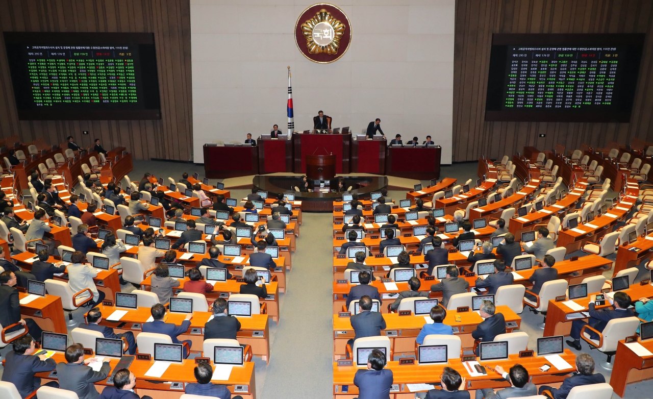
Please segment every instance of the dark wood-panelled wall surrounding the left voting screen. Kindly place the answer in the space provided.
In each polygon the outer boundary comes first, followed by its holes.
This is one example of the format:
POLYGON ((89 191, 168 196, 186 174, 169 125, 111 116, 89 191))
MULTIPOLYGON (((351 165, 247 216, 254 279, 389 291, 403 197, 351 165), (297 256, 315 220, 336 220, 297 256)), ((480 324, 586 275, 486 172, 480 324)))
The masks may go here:
POLYGON ((100 138, 135 159, 193 159, 189 0, 0 0, 0 31, 154 33, 161 93, 161 120, 20 121, 0 35, 0 137, 59 144, 74 136, 84 146, 100 138))

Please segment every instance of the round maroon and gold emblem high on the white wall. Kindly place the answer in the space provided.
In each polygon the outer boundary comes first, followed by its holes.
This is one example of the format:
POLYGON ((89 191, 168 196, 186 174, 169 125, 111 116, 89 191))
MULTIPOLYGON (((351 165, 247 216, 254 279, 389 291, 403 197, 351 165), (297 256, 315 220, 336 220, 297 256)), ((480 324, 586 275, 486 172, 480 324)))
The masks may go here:
POLYGON ((334 5, 311 5, 297 18, 295 42, 304 57, 313 62, 336 61, 347 52, 351 42, 349 18, 334 5))

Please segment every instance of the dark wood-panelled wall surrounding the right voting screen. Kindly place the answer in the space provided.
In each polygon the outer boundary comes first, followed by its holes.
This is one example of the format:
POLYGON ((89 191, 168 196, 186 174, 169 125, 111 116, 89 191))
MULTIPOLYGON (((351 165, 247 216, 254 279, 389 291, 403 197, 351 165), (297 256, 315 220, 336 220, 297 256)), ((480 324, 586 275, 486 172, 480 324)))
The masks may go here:
POLYGON ((567 150, 582 143, 653 142, 653 1, 456 0, 454 161, 521 152, 524 146, 567 150), (629 123, 486 122, 485 94, 492 33, 646 33, 629 123), (545 138, 539 134, 545 133, 545 138))

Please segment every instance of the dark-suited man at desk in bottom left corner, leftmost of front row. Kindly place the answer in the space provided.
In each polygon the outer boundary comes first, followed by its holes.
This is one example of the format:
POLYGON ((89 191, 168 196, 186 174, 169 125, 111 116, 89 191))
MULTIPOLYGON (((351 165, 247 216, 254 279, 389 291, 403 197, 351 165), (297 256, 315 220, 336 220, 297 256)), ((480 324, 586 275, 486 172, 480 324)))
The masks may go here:
MULTIPOLYGON (((37 349, 29 334, 14 340, 12 349, 5 355, 2 380, 16 385, 20 396, 25 398, 40 388, 40 378, 34 377, 34 374, 52 371, 56 368, 57 363, 52 359, 47 359, 45 354, 33 355, 37 349)), ((44 385, 59 388, 57 381, 50 381, 44 385)))

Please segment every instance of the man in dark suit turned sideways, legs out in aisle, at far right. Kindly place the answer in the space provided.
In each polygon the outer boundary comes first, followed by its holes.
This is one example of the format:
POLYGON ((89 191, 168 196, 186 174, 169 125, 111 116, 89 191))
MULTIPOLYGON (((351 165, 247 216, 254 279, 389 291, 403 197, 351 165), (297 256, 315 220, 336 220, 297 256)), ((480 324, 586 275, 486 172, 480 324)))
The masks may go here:
MULTIPOLYGON (((573 341, 567 340, 566 342, 569 344, 569 346, 579 351, 581 350, 581 329, 584 325, 589 324, 590 327, 594 328, 598 332, 603 332, 603 328, 605 328, 608 322, 612 319, 632 317, 635 315, 635 312, 632 309, 628 309, 628 306, 630 306, 632 300, 630 299, 630 296, 628 296, 628 294, 624 293, 623 291, 614 293, 613 300, 610 300, 614 309, 605 308, 596 310, 594 308, 595 298, 596 295, 590 295, 590 304, 588 306, 588 313, 590 313, 590 318, 588 321, 579 319, 574 320, 573 323, 571 323, 571 334, 569 334, 569 336, 571 336, 573 341)), ((607 299, 609 300, 609 297, 607 297, 607 299)), ((585 332, 590 334, 590 339, 599 339, 599 334, 596 334, 596 332, 587 329, 585 332)))

